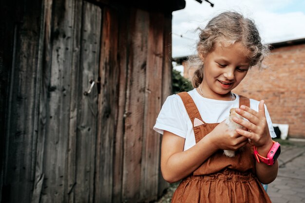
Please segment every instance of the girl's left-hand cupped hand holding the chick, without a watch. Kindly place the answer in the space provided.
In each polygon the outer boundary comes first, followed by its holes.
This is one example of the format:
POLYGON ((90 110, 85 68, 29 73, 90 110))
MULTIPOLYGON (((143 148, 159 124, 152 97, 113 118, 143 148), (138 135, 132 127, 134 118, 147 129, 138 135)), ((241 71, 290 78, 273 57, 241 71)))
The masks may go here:
POLYGON ((248 138, 229 129, 226 121, 218 124, 210 133, 213 145, 218 149, 237 150, 248 143, 248 138))

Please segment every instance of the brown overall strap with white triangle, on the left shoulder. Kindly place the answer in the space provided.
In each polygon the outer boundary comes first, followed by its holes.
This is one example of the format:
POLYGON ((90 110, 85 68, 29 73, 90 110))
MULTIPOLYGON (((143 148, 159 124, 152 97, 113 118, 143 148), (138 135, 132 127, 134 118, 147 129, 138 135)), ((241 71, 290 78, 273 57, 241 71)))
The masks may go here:
POLYGON ((195 105, 195 102, 191 98, 190 94, 188 92, 179 92, 177 95, 181 97, 185 109, 187 110, 188 115, 191 119, 193 127, 205 125, 205 122, 202 120, 197 106, 195 105))

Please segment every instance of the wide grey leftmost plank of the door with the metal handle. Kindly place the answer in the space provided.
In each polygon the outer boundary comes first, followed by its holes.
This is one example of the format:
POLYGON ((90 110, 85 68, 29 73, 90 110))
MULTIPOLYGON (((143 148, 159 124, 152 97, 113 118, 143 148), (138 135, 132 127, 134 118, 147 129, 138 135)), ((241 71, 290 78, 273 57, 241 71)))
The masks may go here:
MULTIPOLYGON (((47 91, 44 129, 44 184, 41 203, 64 202, 71 102, 74 0, 52 2, 50 53, 43 72, 47 91)), ((49 26, 48 24, 46 26, 49 26)), ((48 31, 49 29, 46 29, 48 31)))

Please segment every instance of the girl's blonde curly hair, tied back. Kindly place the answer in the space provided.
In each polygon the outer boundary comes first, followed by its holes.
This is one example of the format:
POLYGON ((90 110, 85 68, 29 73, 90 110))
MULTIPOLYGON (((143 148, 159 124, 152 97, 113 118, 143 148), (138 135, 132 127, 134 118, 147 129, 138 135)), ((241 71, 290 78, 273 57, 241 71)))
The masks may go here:
POLYGON ((204 29, 197 29, 200 30, 197 43, 198 55, 188 59, 189 67, 197 67, 191 80, 194 88, 197 88, 203 80, 204 65, 201 63, 199 54, 209 54, 217 42, 230 44, 241 42, 248 49, 247 56, 250 60, 250 67, 266 68, 262 61, 269 54, 269 48, 262 43, 253 20, 244 18, 237 12, 227 11, 212 18, 204 29))

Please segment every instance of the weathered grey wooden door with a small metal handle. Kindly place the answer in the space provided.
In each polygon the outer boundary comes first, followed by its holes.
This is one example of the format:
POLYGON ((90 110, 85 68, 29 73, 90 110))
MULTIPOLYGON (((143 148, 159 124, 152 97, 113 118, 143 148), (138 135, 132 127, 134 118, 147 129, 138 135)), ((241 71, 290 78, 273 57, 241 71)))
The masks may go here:
POLYGON ((82 0, 54 4, 44 86, 54 91, 46 101, 44 180, 37 194, 41 203, 92 203, 102 11, 82 0))

